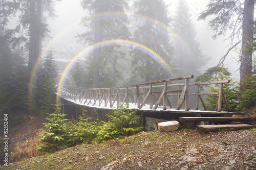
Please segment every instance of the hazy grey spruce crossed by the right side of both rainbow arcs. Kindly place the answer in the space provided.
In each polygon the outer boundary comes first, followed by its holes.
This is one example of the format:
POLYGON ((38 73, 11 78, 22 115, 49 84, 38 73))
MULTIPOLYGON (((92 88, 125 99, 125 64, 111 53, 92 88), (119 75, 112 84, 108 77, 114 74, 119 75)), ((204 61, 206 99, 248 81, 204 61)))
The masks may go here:
MULTIPOLYGON (((141 0, 134 3, 135 13, 150 17, 165 26, 170 23, 167 14, 167 6, 162 0, 141 0)), ((168 64, 172 57, 172 47, 169 37, 157 26, 151 26, 146 21, 138 21, 137 29, 134 32, 133 40, 139 42, 160 55, 168 64)), ((164 70, 149 55, 133 49, 134 70, 137 75, 145 79, 145 82, 167 78, 164 70)))

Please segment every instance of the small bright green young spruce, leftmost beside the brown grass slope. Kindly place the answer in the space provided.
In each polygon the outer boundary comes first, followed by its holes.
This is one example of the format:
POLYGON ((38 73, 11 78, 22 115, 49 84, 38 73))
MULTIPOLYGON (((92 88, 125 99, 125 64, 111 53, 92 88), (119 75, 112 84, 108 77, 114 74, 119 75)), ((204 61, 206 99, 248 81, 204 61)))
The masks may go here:
POLYGON ((39 141, 44 145, 39 145, 37 150, 40 152, 53 152, 67 147, 69 138, 68 119, 63 118, 66 114, 59 113, 60 105, 55 105, 55 112, 48 114, 45 119, 45 130, 41 129, 38 134, 39 141))

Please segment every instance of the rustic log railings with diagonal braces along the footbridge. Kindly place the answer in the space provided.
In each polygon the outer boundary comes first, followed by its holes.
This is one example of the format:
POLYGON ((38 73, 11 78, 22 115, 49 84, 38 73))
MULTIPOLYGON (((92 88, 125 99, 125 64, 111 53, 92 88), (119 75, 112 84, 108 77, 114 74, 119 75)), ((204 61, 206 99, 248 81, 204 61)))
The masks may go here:
POLYGON ((189 111, 189 95, 196 95, 195 110, 199 108, 199 99, 206 110, 202 95, 219 95, 216 110, 221 111, 223 97, 227 111, 229 112, 223 92, 223 84, 229 83, 229 80, 189 83, 189 79, 192 78, 194 78, 193 75, 115 88, 81 88, 59 85, 59 95, 63 98, 73 100, 74 102, 78 100, 79 103, 83 105, 110 108, 113 108, 114 104, 124 105, 125 103, 127 108, 129 108, 130 104, 134 104, 136 106, 135 108, 141 109, 146 106, 147 103, 149 104, 149 109, 157 109, 161 105, 160 102, 163 100, 163 110, 167 109, 167 105, 173 108, 168 95, 177 95, 178 101, 176 110, 180 110, 183 103, 185 103, 185 111, 189 111), (185 83, 172 84, 174 81, 181 80, 185 81, 185 83), (210 84, 220 84, 219 92, 199 92, 200 85, 210 84), (196 86, 196 92, 189 93, 189 86, 196 86))

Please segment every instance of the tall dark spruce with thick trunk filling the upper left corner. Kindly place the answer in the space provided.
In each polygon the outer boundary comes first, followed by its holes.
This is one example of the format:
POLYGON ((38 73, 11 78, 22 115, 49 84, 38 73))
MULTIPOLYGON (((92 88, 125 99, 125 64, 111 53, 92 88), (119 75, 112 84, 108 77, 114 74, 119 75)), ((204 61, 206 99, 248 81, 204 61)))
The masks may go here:
POLYGON ((54 2, 49 0, 0 2, 0 27, 7 28, 5 38, 10 40, 13 48, 19 46, 23 52, 29 52, 29 74, 39 57, 42 37, 48 32, 42 16, 54 15, 54 2), (14 21, 17 21, 15 28, 8 27, 10 22, 14 23, 14 21))

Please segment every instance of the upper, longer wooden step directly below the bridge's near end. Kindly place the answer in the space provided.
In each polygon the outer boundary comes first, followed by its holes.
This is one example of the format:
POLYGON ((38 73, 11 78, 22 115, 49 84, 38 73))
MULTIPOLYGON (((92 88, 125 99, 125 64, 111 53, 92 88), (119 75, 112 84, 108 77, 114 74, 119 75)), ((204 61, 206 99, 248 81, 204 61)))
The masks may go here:
POLYGON ((179 117, 181 123, 195 121, 210 121, 210 122, 252 122, 254 117, 179 117))

